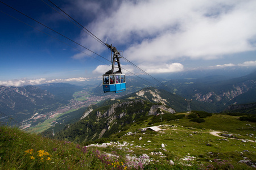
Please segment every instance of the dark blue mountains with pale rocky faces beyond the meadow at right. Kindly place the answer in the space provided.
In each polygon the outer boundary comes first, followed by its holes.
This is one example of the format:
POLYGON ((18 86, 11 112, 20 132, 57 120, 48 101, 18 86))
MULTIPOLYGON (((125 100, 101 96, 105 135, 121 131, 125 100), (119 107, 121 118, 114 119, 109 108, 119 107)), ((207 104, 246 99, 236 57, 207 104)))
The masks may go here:
POLYGON ((170 80, 166 84, 174 94, 213 104, 215 112, 221 112, 228 105, 256 101, 256 71, 239 78, 220 79, 222 76, 207 76, 197 79, 170 80))

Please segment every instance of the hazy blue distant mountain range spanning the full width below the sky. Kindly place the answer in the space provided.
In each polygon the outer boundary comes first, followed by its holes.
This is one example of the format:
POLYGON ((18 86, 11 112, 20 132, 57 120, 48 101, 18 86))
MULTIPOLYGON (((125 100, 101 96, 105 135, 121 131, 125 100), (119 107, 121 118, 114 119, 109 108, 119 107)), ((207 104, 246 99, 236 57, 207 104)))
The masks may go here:
MULTIPOLYGON (((153 90, 150 88, 152 84, 148 81, 127 76, 127 90, 119 94, 104 94, 101 85, 94 88, 67 83, 25 87, 0 86, 0 111, 18 121, 23 121, 26 118, 31 118, 35 113, 45 114, 67 105, 71 99, 74 99, 73 94, 78 91, 86 91, 86 95, 91 97, 106 96, 109 99, 119 97, 122 99, 123 97, 131 100, 142 99, 162 103, 174 108, 176 112, 187 111, 185 99, 192 99, 192 110, 212 113, 221 112, 229 105, 248 104, 256 101, 256 71, 232 79, 225 79, 221 75, 212 75, 204 78, 161 80, 166 86, 155 86, 157 90, 153 90), (148 97, 147 94, 151 94, 151 97, 148 97)), ((113 101, 108 100, 106 102, 111 103, 113 101)))

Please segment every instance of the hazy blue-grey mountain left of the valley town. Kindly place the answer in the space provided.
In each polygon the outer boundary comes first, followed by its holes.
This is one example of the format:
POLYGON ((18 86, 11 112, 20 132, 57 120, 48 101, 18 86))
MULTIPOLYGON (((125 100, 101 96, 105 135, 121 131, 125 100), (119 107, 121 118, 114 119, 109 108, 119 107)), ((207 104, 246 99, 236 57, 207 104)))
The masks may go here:
POLYGON ((51 111, 59 106, 55 96, 36 86, 0 86, 0 109, 10 117, 22 121, 40 110, 51 111))

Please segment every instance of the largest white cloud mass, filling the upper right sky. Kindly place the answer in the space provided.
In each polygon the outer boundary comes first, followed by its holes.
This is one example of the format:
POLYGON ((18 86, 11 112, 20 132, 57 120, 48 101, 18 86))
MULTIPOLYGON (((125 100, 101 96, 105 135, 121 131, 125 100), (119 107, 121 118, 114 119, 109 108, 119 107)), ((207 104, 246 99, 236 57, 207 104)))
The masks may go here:
MULTIPOLYGON (((233 0, 121 1, 87 27, 101 40, 109 37, 112 44, 124 46, 124 56, 137 65, 217 59, 256 50, 255 6, 256 1, 233 0)), ((101 48, 88 35, 82 34, 80 41, 90 49, 101 48)))

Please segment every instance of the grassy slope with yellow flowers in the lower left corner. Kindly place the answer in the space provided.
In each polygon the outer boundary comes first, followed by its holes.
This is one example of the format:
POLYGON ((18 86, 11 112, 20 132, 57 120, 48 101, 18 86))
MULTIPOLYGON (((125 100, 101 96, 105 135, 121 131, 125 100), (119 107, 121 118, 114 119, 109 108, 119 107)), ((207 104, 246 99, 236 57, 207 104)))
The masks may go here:
POLYGON ((0 146, 0 169, 112 169, 114 165, 127 169, 122 158, 106 156, 96 148, 7 126, 0 127, 0 146))

